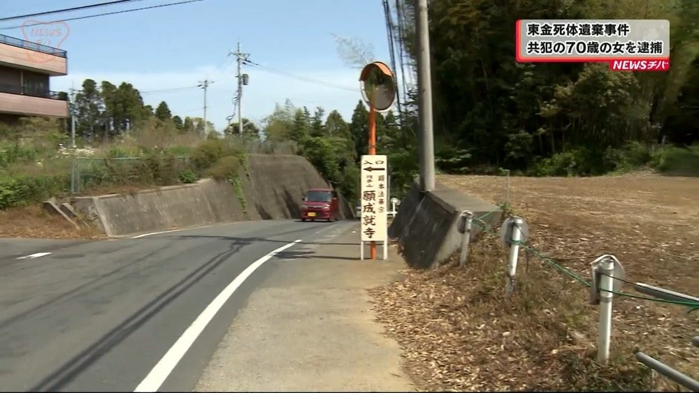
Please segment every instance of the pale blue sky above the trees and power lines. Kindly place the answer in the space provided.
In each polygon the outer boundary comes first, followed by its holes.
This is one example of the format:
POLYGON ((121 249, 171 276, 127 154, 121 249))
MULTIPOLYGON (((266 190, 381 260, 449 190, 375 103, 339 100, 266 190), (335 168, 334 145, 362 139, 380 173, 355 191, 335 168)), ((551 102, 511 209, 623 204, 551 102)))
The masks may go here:
MULTIPOLYGON (((69 75, 52 77, 54 91, 77 89, 85 78, 129 82, 141 91, 146 104, 155 107, 166 101, 182 118, 203 117, 203 89, 196 86, 212 80, 207 118, 219 130, 234 110, 236 64, 229 52, 235 52, 238 42, 241 52, 260 65, 243 66, 243 73, 250 75, 243 90, 243 117, 256 123, 287 98, 311 111, 317 106, 326 114, 338 110, 349 120, 361 100, 360 70, 340 58, 333 35, 371 45, 374 60, 390 64, 380 0, 203 0, 56 22, 178 1, 136 0, 0 22, 0 34, 36 41, 41 38, 33 36, 31 28, 21 27, 36 22, 68 32, 44 42, 68 52, 69 75)), ((102 2, 5 0, 0 17, 102 2)))

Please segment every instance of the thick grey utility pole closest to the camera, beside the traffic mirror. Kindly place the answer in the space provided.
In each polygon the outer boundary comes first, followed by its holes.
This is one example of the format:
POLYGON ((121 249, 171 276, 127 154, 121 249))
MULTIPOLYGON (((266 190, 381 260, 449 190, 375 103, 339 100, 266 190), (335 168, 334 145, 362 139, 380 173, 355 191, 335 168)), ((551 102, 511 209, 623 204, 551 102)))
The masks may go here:
POLYGON ((417 33, 417 90, 419 114, 420 189, 435 188, 434 127, 432 117, 432 76, 427 0, 415 0, 417 33))

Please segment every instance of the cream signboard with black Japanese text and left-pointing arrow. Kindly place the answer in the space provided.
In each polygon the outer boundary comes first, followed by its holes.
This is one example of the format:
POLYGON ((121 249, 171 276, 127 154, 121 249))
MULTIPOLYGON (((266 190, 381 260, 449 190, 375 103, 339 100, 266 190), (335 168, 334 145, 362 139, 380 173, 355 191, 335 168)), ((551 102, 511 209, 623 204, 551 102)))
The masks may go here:
POLYGON ((386 156, 361 156, 361 241, 383 242, 387 237, 386 156))

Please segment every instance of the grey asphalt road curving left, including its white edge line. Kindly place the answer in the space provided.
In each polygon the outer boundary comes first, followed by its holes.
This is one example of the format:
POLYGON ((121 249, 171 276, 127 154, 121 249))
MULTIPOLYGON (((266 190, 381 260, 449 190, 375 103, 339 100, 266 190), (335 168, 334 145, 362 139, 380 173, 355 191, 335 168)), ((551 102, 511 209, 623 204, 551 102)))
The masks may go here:
POLYGON ((0 390, 124 392, 144 379, 145 390, 192 390, 270 273, 271 253, 297 239, 327 242, 346 225, 254 221, 99 242, 3 239, 0 390), (24 255, 34 258, 17 259, 24 255), (230 299, 217 298, 250 265, 259 268, 230 299))

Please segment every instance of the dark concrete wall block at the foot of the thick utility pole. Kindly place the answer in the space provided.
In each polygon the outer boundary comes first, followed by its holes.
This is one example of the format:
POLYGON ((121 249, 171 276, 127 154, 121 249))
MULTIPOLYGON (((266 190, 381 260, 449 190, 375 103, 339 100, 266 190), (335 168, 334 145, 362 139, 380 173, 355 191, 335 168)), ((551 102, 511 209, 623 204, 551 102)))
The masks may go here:
MULTIPOLYGON (((441 184, 429 193, 421 193, 418 184, 413 184, 389 226, 389 237, 398 240, 408 265, 422 269, 438 266, 461 248, 463 235, 456 225, 464 210, 484 217, 491 225, 502 219, 496 205, 441 184)), ((477 235, 477 228, 474 230, 472 236, 477 235)))

